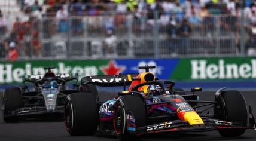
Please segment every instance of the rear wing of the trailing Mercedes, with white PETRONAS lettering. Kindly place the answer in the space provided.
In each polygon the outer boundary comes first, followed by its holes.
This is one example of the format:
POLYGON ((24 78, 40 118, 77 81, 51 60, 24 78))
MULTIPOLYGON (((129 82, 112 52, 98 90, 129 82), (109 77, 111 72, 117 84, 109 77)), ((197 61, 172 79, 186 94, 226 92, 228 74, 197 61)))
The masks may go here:
MULTIPOLYGON (((23 83, 25 82, 36 82, 39 79, 43 79, 44 75, 25 75, 23 76, 23 83)), ((66 82, 77 80, 78 81, 78 73, 60 73, 56 75, 56 79, 63 79, 66 82)))

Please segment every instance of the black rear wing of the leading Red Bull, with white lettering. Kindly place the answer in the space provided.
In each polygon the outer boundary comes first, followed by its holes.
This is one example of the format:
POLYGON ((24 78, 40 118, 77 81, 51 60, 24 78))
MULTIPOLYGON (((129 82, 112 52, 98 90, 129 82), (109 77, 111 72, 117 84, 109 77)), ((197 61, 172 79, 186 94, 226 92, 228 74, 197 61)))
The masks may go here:
POLYGON ((132 83, 132 78, 135 78, 137 75, 139 75, 139 73, 86 76, 82 78, 81 83, 85 85, 93 84, 105 87, 130 85, 132 83))

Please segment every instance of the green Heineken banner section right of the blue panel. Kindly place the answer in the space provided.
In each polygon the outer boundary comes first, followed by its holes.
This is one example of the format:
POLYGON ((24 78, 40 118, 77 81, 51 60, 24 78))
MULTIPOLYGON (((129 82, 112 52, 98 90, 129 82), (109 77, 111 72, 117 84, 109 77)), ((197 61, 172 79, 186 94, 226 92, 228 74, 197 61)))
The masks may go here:
POLYGON ((170 79, 243 80, 256 78, 256 58, 179 59, 170 79))

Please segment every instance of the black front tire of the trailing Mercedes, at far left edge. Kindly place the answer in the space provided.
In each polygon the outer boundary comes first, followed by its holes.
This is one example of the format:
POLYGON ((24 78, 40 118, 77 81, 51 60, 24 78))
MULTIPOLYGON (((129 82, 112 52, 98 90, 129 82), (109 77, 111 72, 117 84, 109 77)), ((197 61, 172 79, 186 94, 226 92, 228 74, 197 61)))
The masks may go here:
MULTIPOLYGON (((19 88, 7 88, 4 91, 4 121, 7 123, 19 122, 20 117, 11 115, 13 111, 22 107, 22 94, 19 88)), ((15 113, 14 113, 15 114, 15 113)))

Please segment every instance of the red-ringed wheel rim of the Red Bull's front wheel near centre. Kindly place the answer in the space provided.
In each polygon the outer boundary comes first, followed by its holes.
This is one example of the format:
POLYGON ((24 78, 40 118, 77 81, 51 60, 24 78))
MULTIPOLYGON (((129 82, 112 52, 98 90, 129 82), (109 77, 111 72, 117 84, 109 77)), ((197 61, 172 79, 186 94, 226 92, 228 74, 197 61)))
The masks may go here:
POLYGON ((121 130, 123 129, 123 108, 122 106, 117 103, 115 105, 115 110, 114 110, 114 128, 115 128, 115 133, 120 134, 121 130))

